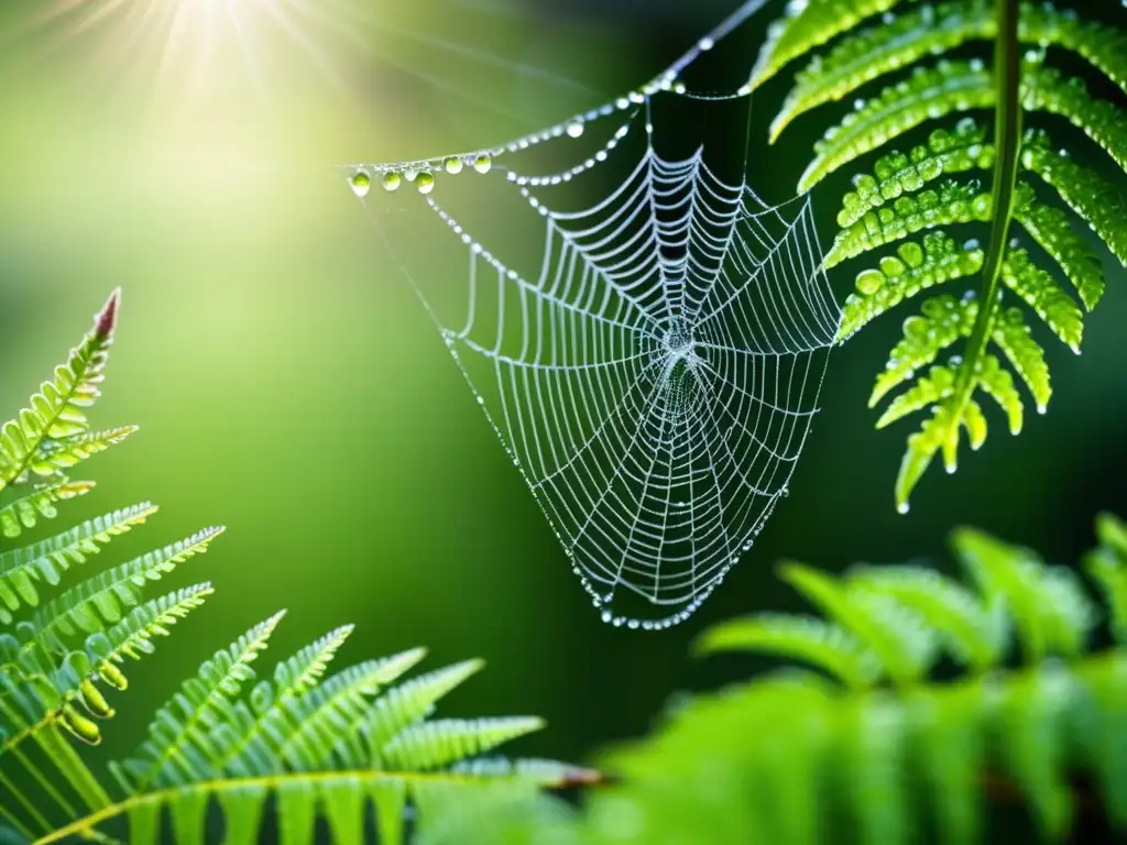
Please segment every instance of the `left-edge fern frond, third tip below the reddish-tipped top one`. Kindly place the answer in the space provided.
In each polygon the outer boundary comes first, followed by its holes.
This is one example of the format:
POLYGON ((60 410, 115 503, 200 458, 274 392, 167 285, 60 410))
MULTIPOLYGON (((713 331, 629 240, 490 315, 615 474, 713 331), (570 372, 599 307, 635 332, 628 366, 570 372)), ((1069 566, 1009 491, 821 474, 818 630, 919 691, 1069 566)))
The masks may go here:
POLYGON ((141 525, 157 513, 149 502, 133 505, 89 519, 47 540, 0 554, 0 622, 10 624, 12 613, 23 605, 39 603, 36 581, 59 584, 73 564, 85 563, 110 540, 141 525))

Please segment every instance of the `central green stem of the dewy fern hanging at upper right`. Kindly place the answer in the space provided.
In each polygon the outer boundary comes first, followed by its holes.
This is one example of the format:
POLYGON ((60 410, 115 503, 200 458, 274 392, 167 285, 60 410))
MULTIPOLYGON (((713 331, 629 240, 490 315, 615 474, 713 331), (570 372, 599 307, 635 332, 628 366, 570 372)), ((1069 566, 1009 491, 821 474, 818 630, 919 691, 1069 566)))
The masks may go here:
POLYGON ((983 296, 967 340, 966 357, 959 370, 952 401, 958 425, 974 391, 975 371, 986 345, 999 309, 999 284, 1002 263, 1010 240, 1013 220, 1018 167, 1021 153, 1021 44, 1018 39, 1018 0, 996 0, 997 37, 994 46, 994 211, 991 219, 990 247, 983 264, 983 296))

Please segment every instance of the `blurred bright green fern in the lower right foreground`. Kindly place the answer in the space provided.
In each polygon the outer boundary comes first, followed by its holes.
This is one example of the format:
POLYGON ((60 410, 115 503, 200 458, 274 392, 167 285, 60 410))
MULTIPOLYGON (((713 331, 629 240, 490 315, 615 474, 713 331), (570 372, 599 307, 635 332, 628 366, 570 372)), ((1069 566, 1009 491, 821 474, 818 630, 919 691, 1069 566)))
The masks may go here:
POLYGON ((1081 801, 1124 836, 1127 525, 1102 516, 1098 534, 1085 569, 1113 635, 1098 653, 1101 613, 1076 571, 978 531, 952 539, 966 581, 923 566, 783 566, 818 615, 737 619, 696 650, 805 667, 682 701, 604 755, 613 781, 580 812, 505 842, 996 842, 999 797, 1028 806, 1045 840, 1075 829, 1081 801), (941 660, 964 674, 932 679, 941 660))

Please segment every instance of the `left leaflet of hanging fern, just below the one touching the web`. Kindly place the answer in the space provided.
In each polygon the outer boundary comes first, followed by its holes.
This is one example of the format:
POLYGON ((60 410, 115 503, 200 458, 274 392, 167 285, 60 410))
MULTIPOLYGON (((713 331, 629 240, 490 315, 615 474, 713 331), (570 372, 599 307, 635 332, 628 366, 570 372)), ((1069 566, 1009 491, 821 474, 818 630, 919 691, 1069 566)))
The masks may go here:
POLYGON ((915 372, 935 361, 943 349, 961 337, 967 337, 978 317, 974 299, 956 300, 935 296, 924 301, 922 317, 904 321, 904 339, 893 347, 885 371, 877 376, 877 384, 869 397, 873 408, 889 391, 911 379, 915 372))

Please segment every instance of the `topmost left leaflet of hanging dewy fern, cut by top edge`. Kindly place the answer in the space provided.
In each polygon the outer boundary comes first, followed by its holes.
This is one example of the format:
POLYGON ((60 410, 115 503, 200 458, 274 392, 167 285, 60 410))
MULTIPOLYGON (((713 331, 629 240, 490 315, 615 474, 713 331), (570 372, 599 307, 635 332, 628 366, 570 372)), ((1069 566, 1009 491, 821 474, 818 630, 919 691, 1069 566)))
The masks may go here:
POLYGON ((752 70, 751 87, 771 79, 791 60, 806 55, 861 20, 896 6, 898 0, 791 0, 787 16, 771 25, 752 70))

